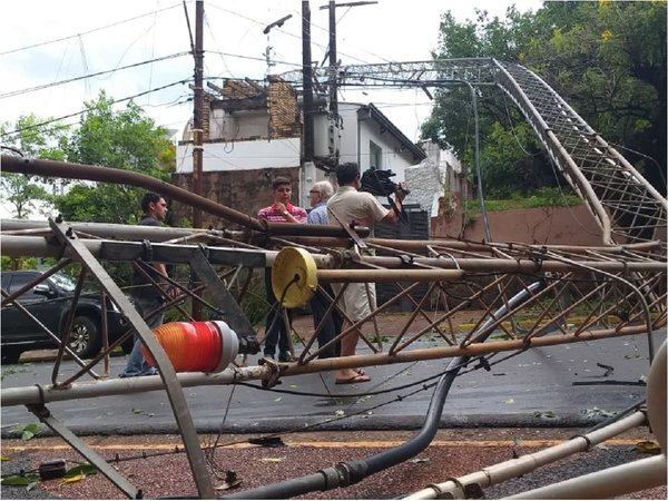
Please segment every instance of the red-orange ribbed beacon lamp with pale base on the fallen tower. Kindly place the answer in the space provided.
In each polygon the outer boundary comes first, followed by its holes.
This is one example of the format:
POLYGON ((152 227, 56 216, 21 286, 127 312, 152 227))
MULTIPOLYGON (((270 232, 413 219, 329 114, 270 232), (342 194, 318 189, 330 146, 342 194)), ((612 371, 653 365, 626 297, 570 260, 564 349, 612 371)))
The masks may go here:
MULTIPOLYGON (((222 321, 170 322, 154 328, 153 333, 167 353, 176 372, 220 372, 237 356, 239 340, 222 321)), ((141 346, 146 362, 156 362, 141 346)))

